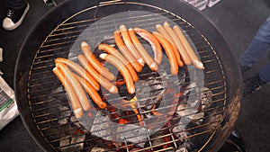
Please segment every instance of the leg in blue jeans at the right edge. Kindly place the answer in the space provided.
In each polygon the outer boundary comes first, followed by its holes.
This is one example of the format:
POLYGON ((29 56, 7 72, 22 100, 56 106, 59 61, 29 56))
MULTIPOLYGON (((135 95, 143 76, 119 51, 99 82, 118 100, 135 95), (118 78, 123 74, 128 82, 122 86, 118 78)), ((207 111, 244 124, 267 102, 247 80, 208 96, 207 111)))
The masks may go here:
POLYGON ((238 62, 242 67, 252 67, 270 47, 270 15, 260 26, 257 35, 253 38, 238 62))

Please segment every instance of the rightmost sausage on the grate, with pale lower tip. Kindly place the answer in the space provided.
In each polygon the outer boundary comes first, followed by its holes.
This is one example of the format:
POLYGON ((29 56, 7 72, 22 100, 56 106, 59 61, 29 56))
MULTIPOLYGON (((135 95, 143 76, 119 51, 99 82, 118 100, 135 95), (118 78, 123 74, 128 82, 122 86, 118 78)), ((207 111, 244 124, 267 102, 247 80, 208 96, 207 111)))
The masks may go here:
POLYGON ((175 31, 176 35, 178 36, 179 40, 182 41, 182 43, 184 45, 184 49, 186 50, 193 65, 199 69, 204 69, 202 62, 196 56, 193 48, 190 46, 189 42, 186 40, 184 33, 183 33, 183 31, 181 31, 180 27, 175 25, 174 31, 175 31))

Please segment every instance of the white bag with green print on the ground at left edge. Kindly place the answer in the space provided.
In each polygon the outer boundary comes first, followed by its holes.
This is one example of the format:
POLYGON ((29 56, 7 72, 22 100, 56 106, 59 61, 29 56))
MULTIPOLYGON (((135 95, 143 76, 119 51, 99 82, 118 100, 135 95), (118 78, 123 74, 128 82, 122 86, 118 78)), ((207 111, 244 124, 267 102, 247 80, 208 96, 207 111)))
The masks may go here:
POLYGON ((14 90, 0 76, 0 130, 18 115, 14 90))

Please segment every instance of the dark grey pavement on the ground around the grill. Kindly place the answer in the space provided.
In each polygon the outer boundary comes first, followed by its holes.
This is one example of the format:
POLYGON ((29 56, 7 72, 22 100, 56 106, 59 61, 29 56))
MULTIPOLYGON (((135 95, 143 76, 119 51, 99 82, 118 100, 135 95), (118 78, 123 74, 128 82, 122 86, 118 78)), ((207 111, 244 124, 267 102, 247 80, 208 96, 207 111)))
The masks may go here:
MULTIPOLYGON (((59 4, 62 0, 56 1, 59 4)), ((0 70, 4 73, 4 80, 14 88, 14 67, 23 40, 31 31, 40 16, 48 12, 53 6, 48 6, 42 0, 29 0, 30 12, 23 24, 14 31, 4 31, 0 28, 0 48, 4 49, 4 61, 0 63, 0 70)), ((4 2, 0 1, 0 20, 5 12, 4 2)), ((221 0, 219 4, 202 11, 227 40, 233 58, 238 59, 247 46, 258 27, 270 14, 269 0, 221 0)), ((243 79, 254 76, 260 67, 269 61, 269 51, 243 79)), ((237 65, 236 65, 237 66, 237 65)), ((240 85, 240 82, 239 82, 240 85)), ((247 95, 241 101, 236 129, 242 135, 249 152, 270 151, 270 85, 264 86, 259 92, 247 95), (269 140, 268 140, 269 139, 269 140)), ((0 151, 40 152, 41 148, 31 138, 23 121, 17 117, 3 130, 0 130, 0 151)))

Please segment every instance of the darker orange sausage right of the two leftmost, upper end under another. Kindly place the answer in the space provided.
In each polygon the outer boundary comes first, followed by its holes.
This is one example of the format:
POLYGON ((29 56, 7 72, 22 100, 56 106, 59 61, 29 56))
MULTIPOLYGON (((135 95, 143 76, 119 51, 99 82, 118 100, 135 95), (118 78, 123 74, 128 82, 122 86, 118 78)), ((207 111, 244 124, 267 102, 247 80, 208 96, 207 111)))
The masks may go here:
POLYGON ((85 88, 87 94, 90 95, 90 97, 98 107, 102 109, 107 108, 107 104, 103 102, 101 96, 97 93, 94 87, 90 83, 88 83, 88 81, 85 81, 85 79, 81 76, 76 75, 76 78, 79 80, 80 84, 85 88))

